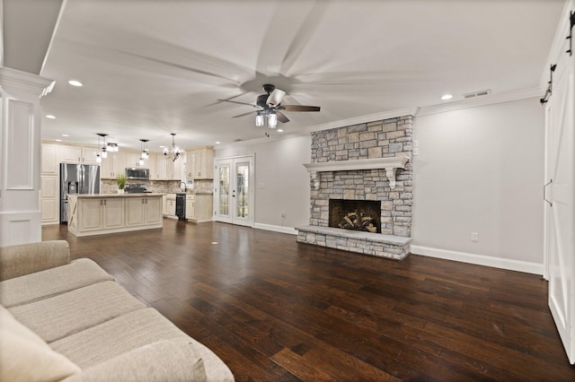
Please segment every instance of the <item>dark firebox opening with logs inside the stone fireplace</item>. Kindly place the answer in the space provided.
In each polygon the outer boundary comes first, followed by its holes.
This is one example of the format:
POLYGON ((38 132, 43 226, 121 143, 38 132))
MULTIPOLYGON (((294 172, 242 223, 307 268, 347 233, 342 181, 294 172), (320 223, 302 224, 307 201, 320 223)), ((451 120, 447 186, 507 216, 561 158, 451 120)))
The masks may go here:
POLYGON ((381 233, 381 202, 330 199, 330 227, 381 233))

